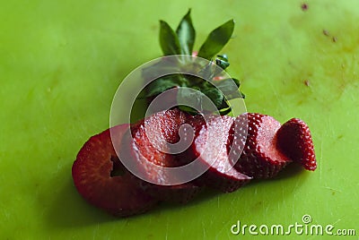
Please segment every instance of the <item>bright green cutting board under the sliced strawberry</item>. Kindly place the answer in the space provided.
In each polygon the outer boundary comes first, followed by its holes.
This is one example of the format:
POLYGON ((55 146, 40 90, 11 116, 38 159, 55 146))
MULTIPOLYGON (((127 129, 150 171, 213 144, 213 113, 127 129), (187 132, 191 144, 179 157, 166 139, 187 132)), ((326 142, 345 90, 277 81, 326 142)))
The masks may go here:
POLYGON ((306 226, 355 229, 358 239, 359 4, 302 4, 1 1, 0 239, 251 239, 248 229, 233 235, 231 227, 238 221, 305 225, 306 214, 306 226), (188 205, 110 217, 76 192, 76 153, 109 127, 119 83, 162 55, 159 19, 174 27, 189 7, 196 47, 210 30, 236 21, 223 53, 232 63, 229 73, 241 80, 248 111, 307 122, 318 169, 289 167, 235 193, 204 193, 188 205))

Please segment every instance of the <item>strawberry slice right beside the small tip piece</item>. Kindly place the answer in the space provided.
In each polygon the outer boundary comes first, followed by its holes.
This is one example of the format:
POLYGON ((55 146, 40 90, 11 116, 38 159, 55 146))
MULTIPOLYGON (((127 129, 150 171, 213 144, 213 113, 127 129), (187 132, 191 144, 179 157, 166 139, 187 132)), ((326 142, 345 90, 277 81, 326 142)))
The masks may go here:
MULTIPOLYGON (((291 162, 276 148, 276 131, 281 124, 272 116, 243 114, 237 117, 236 126, 240 128, 237 132, 241 134, 245 133, 243 128, 248 129, 241 158, 235 164, 235 168, 241 173, 258 179, 270 178, 291 162), (243 116, 248 119, 245 124, 243 116)), ((241 136, 236 137, 241 139, 241 136)), ((232 147, 242 149, 243 143, 233 142, 232 147)))

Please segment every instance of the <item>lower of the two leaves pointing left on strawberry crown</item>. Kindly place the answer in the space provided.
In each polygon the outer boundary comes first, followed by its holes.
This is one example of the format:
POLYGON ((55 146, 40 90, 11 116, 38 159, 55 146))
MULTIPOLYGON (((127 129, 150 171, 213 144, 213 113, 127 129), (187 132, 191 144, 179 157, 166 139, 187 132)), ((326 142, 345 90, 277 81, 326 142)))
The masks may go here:
POLYGON ((165 90, 169 90, 173 87, 180 86, 179 77, 176 75, 163 76, 159 79, 152 81, 141 92, 140 98, 149 98, 162 93, 165 90))

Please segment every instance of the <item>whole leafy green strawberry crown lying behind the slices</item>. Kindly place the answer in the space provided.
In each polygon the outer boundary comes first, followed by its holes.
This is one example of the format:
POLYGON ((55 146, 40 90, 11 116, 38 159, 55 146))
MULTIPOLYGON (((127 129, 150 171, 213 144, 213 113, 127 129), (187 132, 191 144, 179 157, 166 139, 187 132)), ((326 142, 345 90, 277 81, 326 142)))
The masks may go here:
MULTIPOLYGON (((184 55, 179 59, 180 63, 183 64, 180 65, 181 67, 188 67, 189 63, 186 57, 191 56, 196 39, 196 30, 193 27, 190 13, 191 10, 189 9, 176 31, 172 30, 167 22, 160 21, 160 44, 163 55, 184 55)), ((199 49, 198 56, 206 58, 210 63, 196 65, 193 71, 199 73, 199 77, 192 76, 190 73, 163 76, 151 82, 141 92, 142 96, 153 97, 173 87, 184 87, 178 88, 176 94, 178 107, 181 110, 194 115, 197 115, 198 111, 215 113, 217 110, 221 115, 231 114, 232 108, 229 106, 229 100, 244 98, 244 94, 239 90, 240 81, 237 79, 218 80, 222 76, 219 74, 225 71, 229 62, 228 56, 216 56, 216 54, 231 39, 233 30, 234 21, 231 20, 223 23, 208 35, 205 43, 199 49), (217 76, 218 78, 216 78, 217 76), (206 98, 210 99, 211 102, 209 103, 206 98), (215 109, 213 105, 215 105, 215 109)), ((167 60, 159 61, 144 68, 142 76, 144 81, 151 81, 160 73, 171 72, 172 67, 167 60)))

